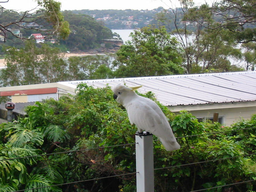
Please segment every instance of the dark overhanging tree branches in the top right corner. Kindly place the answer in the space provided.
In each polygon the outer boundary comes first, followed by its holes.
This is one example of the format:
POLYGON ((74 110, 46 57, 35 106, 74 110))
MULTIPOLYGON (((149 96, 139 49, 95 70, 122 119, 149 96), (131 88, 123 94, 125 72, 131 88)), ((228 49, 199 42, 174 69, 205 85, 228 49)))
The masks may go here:
MULTIPOLYGON (((218 19, 218 25, 205 26, 211 29, 227 28, 233 32, 237 42, 248 43, 256 41, 256 4, 254 0, 221 0, 205 11, 212 12, 218 19)), ((204 25, 203 25, 204 26, 204 25)))

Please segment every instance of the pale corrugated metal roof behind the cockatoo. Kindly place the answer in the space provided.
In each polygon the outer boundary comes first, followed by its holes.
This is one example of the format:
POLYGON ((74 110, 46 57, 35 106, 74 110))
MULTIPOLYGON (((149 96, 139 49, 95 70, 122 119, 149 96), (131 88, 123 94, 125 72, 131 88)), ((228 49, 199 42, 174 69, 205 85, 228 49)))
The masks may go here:
POLYGON ((60 82, 66 85, 86 83, 93 87, 143 85, 141 93, 152 91, 165 106, 196 105, 256 100, 256 71, 134 77, 60 82))

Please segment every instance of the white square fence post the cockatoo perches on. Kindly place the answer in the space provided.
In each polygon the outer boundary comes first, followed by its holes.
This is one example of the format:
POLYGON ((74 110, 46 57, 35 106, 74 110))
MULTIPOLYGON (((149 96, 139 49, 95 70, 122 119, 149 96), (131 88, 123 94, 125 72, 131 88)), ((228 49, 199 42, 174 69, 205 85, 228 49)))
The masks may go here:
POLYGON ((154 192, 153 135, 135 135, 135 140, 137 192, 154 192))

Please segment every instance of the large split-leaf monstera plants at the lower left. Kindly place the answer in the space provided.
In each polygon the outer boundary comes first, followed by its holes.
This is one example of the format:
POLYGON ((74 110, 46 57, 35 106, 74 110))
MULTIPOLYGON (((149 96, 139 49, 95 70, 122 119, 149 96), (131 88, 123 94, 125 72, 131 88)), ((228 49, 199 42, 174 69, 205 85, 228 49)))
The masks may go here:
MULTIPOLYGON (((44 114, 52 114, 51 109, 39 102, 30 106, 28 117, 16 123, 1 124, 0 127, 0 190, 16 191, 36 187, 51 186, 63 182, 65 168, 60 167, 62 160, 37 156, 24 159, 4 160, 24 156, 42 155, 53 142, 64 142, 69 135, 62 127, 49 124, 44 114), (35 110, 36 109, 36 110, 35 110), (4 141, 9 132, 8 142, 4 141), (3 161, 4 160, 4 161, 3 161), (56 161, 57 160, 57 161, 56 161)), ((61 192, 59 187, 44 188, 45 192, 61 192)))

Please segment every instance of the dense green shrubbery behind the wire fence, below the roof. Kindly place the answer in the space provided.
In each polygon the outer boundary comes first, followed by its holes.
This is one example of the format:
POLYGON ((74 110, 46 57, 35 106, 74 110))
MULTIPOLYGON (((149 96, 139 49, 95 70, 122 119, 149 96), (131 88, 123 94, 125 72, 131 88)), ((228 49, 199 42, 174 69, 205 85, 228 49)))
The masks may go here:
MULTIPOLYGON (((37 102, 27 109, 28 115, 25 118, 1 124, 2 192, 136 172, 135 145, 4 160, 134 143, 136 127, 129 123, 124 108, 113 100, 109 87, 94 89, 80 84, 77 91, 75 98, 62 97, 59 101, 50 99, 44 103, 37 102)), ((144 96, 154 99, 151 92, 144 96)), ((251 128, 256 125, 256 116, 225 127, 218 123, 198 122, 186 111, 175 115, 168 108, 159 103, 158 105, 178 137, 251 128)), ((255 128, 252 128, 185 137, 178 139, 181 149, 173 152, 167 152, 159 141, 154 141, 155 168, 228 158, 156 170, 155 191, 187 192, 256 179, 255 135, 255 128), (246 154, 249 155, 243 156, 246 154)), ((135 174, 131 174, 49 187, 42 191, 134 192, 135 188, 135 174)), ((237 192, 256 190, 255 185, 250 182, 226 188, 237 192)), ((217 191, 224 189, 219 188, 217 191)))

